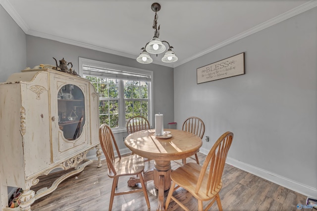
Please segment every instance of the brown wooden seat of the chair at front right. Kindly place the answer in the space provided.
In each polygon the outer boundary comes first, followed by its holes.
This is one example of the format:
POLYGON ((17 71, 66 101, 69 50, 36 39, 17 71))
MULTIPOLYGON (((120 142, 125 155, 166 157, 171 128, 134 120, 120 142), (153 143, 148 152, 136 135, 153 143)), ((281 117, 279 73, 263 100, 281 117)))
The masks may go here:
POLYGON ((207 181, 209 176, 209 172, 206 171, 204 180, 202 182, 202 186, 199 189, 198 193, 196 194, 195 188, 197 186, 197 181, 199 178, 199 174, 201 173, 201 169, 202 169, 202 166, 200 166, 199 164, 194 162, 189 162, 183 166, 180 166, 176 170, 173 170, 171 172, 170 177, 172 181, 174 181, 177 185, 186 189, 196 199, 199 199, 202 201, 208 201, 220 191, 222 187, 222 180, 220 180, 218 187, 215 189, 213 193, 210 193, 209 191, 208 195, 206 195, 207 181))

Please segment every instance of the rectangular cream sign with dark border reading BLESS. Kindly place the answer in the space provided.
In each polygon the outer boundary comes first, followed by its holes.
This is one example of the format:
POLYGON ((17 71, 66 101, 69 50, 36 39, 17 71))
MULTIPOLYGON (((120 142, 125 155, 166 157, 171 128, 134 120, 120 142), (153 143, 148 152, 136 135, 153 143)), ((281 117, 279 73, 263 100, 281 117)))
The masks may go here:
POLYGON ((197 84, 245 74, 244 53, 197 68, 197 84))

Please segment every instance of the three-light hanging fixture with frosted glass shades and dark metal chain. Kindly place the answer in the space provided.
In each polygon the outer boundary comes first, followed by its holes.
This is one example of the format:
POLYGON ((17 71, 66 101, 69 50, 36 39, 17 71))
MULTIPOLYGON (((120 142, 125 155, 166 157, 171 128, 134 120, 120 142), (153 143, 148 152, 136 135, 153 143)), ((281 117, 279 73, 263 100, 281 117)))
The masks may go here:
MULTIPOLYGON (((150 42, 148 42, 145 45, 145 48, 142 48, 142 53, 137 57, 137 61, 142 64, 149 64, 152 63, 153 59, 151 58, 150 53, 152 54, 158 54, 163 53, 166 50, 166 47, 163 43, 166 43, 168 45, 168 50, 162 57, 163 62, 175 62, 177 61, 177 56, 175 53, 171 50, 173 47, 169 45, 166 41, 160 41, 159 40, 159 27, 158 25, 158 14, 157 12, 160 10, 160 4, 159 3, 153 3, 151 5, 152 10, 155 12, 154 21, 153 21, 153 29, 154 29, 154 37, 150 42)), ((160 25, 159 25, 160 26, 160 25)))

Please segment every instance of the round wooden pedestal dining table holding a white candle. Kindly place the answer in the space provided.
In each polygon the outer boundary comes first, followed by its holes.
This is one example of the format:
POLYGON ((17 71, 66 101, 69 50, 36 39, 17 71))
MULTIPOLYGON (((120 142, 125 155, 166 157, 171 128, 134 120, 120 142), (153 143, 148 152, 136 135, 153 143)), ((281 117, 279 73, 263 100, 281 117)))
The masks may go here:
MULTIPOLYGON (((164 191, 171 185, 171 160, 188 158, 195 155, 203 145, 202 139, 197 135, 176 129, 170 131, 168 136, 155 136, 155 129, 142 130, 128 135, 124 143, 135 154, 144 158, 154 159, 154 169, 144 173, 144 180, 154 180, 159 190, 158 211, 164 210, 164 191)), ((139 182, 138 178, 131 178, 129 186, 139 182)))

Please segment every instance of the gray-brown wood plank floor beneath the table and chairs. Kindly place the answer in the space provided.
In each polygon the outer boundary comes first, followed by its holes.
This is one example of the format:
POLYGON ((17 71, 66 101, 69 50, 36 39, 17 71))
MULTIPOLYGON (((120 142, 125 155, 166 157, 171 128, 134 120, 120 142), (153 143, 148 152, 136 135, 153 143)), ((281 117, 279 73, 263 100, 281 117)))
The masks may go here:
MULTIPOLYGON (((198 153, 200 163, 206 156, 198 153)), ((179 160, 181 161, 181 160, 179 160)), ((187 159, 187 162, 193 161, 187 159)), ((154 160, 146 162, 146 169, 153 168, 154 160)), ((172 161, 172 169, 179 165, 172 161)), ((112 179, 106 173, 106 161, 97 168, 97 161, 88 165, 83 172, 63 181, 57 189, 37 200, 31 206, 32 211, 107 211, 112 185, 112 179)), ((59 172, 40 178, 38 185, 32 187, 37 191, 53 183, 53 178, 60 176, 59 172)), ((127 190, 129 177, 119 179, 118 189, 127 190)), ((223 211, 296 211, 297 204, 305 204, 306 196, 276 185, 258 176, 226 164, 222 176, 223 187, 220 191, 223 211)), ((151 210, 158 206, 158 190, 153 181, 147 183, 151 210)), ((165 191, 165 198, 168 191, 165 191)), ((195 198, 178 189, 174 196, 182 201, 190 210, 197 210, 195 198)), ((146 211, 147 205, 142 192, 114 197, 113 211, 146 211)), ((181 211, 173 201, 168 211, 181 211)), ((210 210, 218 210, 216 203, 210 210)))

